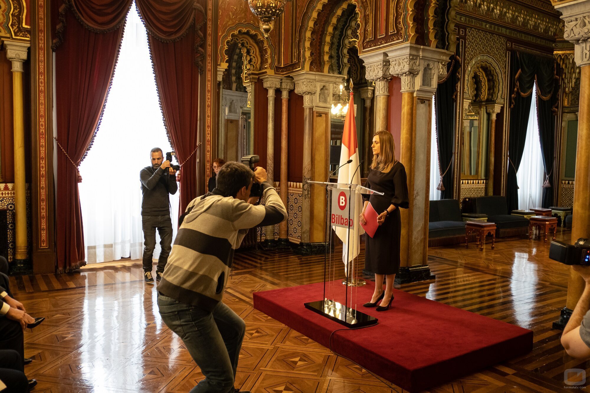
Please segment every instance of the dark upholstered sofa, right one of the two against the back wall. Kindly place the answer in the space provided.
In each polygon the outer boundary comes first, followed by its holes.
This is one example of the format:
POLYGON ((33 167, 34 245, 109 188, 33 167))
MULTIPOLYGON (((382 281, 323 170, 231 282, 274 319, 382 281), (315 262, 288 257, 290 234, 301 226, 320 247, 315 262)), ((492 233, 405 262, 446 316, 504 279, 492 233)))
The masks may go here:
POLYGON ((518 236, 528 233, 529 220, 508 211, 505 196, 475 198, 476 213, 486 214, 487 222, 496 224, 496 237, 518 236))

